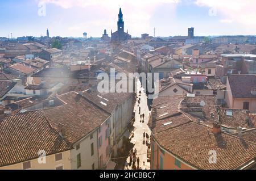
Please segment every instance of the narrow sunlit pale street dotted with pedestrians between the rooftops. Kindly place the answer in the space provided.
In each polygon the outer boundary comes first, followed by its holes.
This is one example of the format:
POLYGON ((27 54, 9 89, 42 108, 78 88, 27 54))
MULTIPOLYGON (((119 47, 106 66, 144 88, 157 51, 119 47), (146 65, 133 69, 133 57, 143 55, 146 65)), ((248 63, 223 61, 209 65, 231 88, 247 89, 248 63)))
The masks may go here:
MULTIPOLYGON (((150 129, 148 128, 148 118, 150 115, 150 111, 148 110, 148 106, 147 106, 147 95, 146 93, 143 92, 143 87, 141 87, 141 82, 137 82, 137 101, 134 107, 134 111, 135 111, 135 122, 134 122, 134 137, 131 138, 131 143, 134 144, 134 148, 133 151, 136 149, 137 150, 137 154, 136 154, 136 158, 139 158, 139 167, 142 170, 145 169, 150 169, 150 162, 147 162, 147 145, 146 145, 146 137, 143 138, 143 133, 145 132, 145 134, 147 133, 148 136, 150 137, 150 129), (140 94, 141 92, 141 94, 140 94), (138 100, 140 99, 140 103, 138 102, 138 100), (141 112, 139 113, 139 108, 141 109, 141 112), (143 123, 143 118, 141 118, 141 115, 143 115, 144 113, 144 123, 143 123), (143 143, 143 140, 145 141, 143 143), (145 164, 143 164, 143 161, 145 164)), ((148 140, 150 140, 148 138, 148 140)), ((127 163, 130 163, 130 158, 127 158, 127 163)), ((131 170, 132 169, 132 163, 129 164, 128 169, 131 170)), ((137 165, 137 161, 135 162, 135 166, 138 167, 137 165)))

